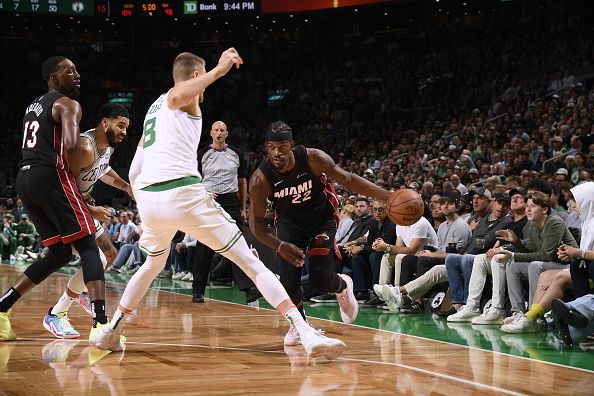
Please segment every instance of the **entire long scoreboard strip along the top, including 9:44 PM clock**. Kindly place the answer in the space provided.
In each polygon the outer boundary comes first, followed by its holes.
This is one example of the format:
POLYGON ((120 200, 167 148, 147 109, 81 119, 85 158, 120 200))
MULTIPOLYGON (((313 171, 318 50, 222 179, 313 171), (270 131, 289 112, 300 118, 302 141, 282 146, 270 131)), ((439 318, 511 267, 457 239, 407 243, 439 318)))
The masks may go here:
POLYGON ((239 16, 260 8, 260 0, 0 0, 0 12, 104 17, 239 16))

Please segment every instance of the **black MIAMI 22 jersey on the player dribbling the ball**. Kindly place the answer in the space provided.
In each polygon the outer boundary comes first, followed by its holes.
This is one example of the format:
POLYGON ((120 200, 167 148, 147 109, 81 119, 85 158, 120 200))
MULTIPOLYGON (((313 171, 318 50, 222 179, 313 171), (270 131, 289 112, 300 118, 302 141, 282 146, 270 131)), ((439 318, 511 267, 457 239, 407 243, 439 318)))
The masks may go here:
POLYGON ((277 217, 297 224, 317 224, 334 218, 338 199, 326 175, 313 174, 307 162, 307 149, 293 149, 295 167, 290 175, 278 173, 266 158, 259 169, 270 183, 272 207, 277 217))

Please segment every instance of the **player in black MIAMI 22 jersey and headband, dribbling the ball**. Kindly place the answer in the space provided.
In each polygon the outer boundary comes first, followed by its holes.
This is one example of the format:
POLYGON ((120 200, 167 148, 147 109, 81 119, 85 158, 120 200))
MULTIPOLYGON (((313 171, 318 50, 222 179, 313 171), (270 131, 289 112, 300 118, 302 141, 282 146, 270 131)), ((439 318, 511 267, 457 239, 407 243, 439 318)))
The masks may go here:
MULTIPOLYGON (((307 254, 311 287, 319 293, 336 293, 342 320, 351 323, 359 306, 353 281, 332 271, 338 201, 326 177, 382 201, 390 193, 341 169, 321 150, 295 147, 292 130, 282 121, 268 126, 265 146, 268 158, 250 179, 250 228, 260 242, 277 252, 281 283, 304 317, 301 267, 307 254), (266 200, 275 210, 276 236, 266 227, 266 200)), ((296 337, 290 328, 285 344, 295 345, 296 337)))

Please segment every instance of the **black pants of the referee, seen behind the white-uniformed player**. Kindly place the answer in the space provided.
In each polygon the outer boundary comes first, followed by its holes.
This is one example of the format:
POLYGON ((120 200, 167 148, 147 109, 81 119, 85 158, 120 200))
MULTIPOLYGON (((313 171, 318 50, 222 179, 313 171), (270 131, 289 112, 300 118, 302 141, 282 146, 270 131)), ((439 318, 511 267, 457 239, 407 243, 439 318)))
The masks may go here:
MULTIPOLYGON (((229 213, 231 218, 237 223, 237 227, 243 232, 245 224, 241 217, 239 194, 219 194, 215 198, 215 201, 229 213)), ((213 256, 214 251, 211 248, 200 242, 196 243, 196 252, 192 263, 192 275, 194 277, 192 289, 195 292, 200 292, 202 295, 204 295, 204 291, 206 290, 206 282, 208 281, 213 256)), ((246 290, 254 286, 254 282, 237 265, 232 264, 231 268, 233 269, 233 281, 237 284, 239 290, 246 290)))

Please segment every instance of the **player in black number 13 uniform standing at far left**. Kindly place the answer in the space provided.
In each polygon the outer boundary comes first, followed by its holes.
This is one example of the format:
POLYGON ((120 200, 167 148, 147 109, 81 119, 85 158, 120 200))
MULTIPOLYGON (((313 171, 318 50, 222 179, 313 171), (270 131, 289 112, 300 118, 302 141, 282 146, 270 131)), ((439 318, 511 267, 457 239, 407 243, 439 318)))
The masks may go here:
MULTIPOLYGON (((81 257, 91 298, 94 326, 90 341, 95 343, 93 334, 101 327, 98 324, 107 323, 105 277, 95 242, 95 225, 74 175, 80 172, 81 109, 69 97, 78 94, 80 75, 74 64, 61 56, 47 59, 42 74, 48 92, 25 110, 17 190, 49 253, 27 267, 14 286, 0 296, 0 337, 15 338, 8 310, 25 292, 70 261, 72 244, 81 257)), ((48 325, 45 320, 44 325, 48 325)))

